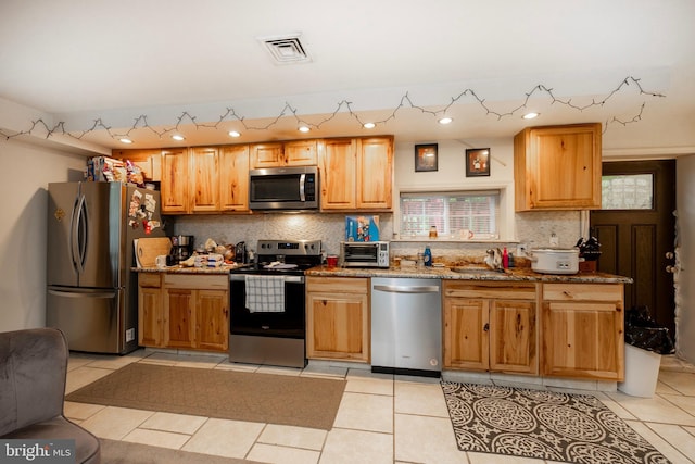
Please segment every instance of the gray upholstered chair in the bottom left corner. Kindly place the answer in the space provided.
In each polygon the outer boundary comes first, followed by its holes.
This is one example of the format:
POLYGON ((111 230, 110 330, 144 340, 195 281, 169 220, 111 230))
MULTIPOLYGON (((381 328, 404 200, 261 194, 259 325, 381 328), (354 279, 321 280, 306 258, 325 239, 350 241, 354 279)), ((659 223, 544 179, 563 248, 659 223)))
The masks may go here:
POLYGON ((67 358, 58 329, 0 334, 0 439, 74 439, 77 463, 99 463, 99 439, 63 415, 67 358))

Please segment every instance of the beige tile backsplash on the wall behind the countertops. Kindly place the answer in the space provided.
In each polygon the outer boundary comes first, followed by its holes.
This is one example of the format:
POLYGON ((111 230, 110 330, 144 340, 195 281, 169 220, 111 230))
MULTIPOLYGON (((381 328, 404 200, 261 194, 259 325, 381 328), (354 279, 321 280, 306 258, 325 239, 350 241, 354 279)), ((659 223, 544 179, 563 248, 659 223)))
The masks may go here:
MULTIPOLYGON (((351 214, 354 215, 354 214, 351 214)), ((192 235, 195 247, 212 238, 219 244, 245 241, 255 251, 260 239, 320 239, 327 253, 337 253, 345 236, 345 214, 321 213, 263 213, 250 215, 190 215, 167 220, 168 235, 192 235)), ((516 237, 514 242, 479 242, 452 240, 393 240, 391 254, 413 256, 429 243, 434 256, 483 258, 491 244, 508 247, 516 251, 517 242, 528 249, 551 246, 555 234, 558 247, 571 248, 581 236, 580 213, 577 211, 527 212, 515 215, 516 237)), ((380 237, 393 237, 393 214, 379 214, 380 237)))

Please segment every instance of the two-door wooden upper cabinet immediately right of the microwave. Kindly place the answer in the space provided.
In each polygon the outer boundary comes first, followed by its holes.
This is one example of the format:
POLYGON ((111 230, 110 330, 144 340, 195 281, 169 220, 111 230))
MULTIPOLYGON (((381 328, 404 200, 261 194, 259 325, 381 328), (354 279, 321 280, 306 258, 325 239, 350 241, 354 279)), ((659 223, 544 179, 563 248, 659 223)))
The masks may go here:
POLYGON ((318 151, 323 211, 391 210, 393 137, 325 139, 318 151))

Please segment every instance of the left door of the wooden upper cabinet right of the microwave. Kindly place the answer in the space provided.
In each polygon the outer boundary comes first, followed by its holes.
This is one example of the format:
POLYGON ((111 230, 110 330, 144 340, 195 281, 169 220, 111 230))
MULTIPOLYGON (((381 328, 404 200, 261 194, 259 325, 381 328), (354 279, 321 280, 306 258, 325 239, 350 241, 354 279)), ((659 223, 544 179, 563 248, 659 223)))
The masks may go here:
POLYGON ((319 153, 321 210, 354 210, 357 140, 323 140, 319 153))

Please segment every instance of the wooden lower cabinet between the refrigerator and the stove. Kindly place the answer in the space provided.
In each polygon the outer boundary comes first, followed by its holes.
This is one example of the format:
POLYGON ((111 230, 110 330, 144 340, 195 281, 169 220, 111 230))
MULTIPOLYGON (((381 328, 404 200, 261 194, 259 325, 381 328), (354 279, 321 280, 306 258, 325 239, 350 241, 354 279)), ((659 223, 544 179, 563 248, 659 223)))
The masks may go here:
POLYGON ((227 275, 140 274, 139 343, 143 347, 227 351, 227 275), (161 287, 152 285, 153 276, 161 287))

